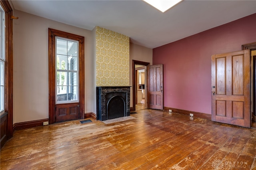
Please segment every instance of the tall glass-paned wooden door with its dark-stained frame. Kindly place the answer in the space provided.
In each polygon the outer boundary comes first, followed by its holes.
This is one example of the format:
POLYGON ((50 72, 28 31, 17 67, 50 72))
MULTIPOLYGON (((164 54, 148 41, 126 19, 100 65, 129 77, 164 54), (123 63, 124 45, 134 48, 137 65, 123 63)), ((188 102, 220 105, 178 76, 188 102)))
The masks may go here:
POLYGON ((84 37, 48 29, 49 124, 84 119, 84 37))

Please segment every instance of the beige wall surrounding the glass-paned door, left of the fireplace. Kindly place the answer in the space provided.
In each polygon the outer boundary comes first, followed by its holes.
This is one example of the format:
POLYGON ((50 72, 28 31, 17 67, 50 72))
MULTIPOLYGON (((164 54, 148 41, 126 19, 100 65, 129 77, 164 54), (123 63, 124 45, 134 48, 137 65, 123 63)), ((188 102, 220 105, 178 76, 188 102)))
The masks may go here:
POLYGON ((85 37, 85 113, 96 113, 93 32, 14 11, 13 123, 48 118, 48 28, 85 37))

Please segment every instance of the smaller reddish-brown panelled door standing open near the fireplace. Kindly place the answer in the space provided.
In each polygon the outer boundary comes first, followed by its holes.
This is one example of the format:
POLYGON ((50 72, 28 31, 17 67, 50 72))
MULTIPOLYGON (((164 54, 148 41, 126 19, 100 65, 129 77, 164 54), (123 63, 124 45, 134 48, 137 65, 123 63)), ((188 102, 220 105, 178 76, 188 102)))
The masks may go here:
POLYGON ((163 97, 163 65, 148 66, 148 109, 164 109, 163 97))

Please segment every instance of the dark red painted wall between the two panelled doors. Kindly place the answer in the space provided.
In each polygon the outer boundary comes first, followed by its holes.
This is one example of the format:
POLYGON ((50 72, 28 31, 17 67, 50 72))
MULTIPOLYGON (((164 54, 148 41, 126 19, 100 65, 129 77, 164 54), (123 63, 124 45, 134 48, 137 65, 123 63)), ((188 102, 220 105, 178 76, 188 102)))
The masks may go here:
POLYGON ((164 65, 164 107, 211 114, 211 55, 256 42, 256 13, 153 49, 164 65))

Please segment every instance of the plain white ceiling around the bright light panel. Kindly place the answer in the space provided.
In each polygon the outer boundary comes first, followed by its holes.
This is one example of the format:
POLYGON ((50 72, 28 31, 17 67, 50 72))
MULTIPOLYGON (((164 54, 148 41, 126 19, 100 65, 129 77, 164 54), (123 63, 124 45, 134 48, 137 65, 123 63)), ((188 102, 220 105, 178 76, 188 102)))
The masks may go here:
POLYGON ((15 10, 87 30, 100 26, 149 48, 256 13, 256 0, 184 0, 164 13, 141 0, 11 2, 15 10))

